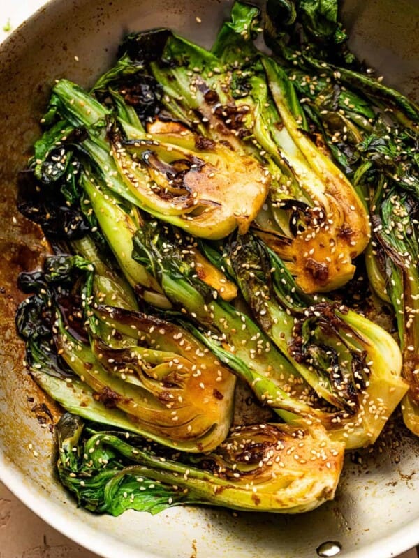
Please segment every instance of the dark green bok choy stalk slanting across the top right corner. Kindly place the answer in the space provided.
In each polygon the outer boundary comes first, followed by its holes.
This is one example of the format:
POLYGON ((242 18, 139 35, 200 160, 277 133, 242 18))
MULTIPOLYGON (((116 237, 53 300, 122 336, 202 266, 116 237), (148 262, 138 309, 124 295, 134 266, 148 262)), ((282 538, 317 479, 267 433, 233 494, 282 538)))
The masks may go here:
POLYGON ((369 75, 372 70, 365 72, 365 66, 348 50, 348 36, 337 21, 338 8, 337 0, 267 0, 267 43, 284 61, 309 70, 316 80, 318 73, 335 78, 375 103, 384 101, 402 121, 418 122, 417 105, 374 79, 369 75))

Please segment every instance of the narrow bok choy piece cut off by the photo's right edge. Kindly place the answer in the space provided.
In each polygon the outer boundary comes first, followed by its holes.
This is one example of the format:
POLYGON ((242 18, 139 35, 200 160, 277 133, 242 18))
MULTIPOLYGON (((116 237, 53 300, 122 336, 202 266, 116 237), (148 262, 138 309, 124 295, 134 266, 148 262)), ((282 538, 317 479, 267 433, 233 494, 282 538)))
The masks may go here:
MULTIPOLYGON (((389 136, 387 136, 389 137, 389 136)), ((410 149, 404 149, 404 160, 396 172, 390 165, 381 167, 381 158, 391 140, 369 146, 364 155, 374 160, 363 177, 371 188, 372 250, 367 258, 370 278, 374 271, 395 309, 400 346, 403 353, 403 376, 409 392, 402 401, 404 422, 419 435, 419 192, 418 165, 410 149), (377 157, 377 151, 380 156, 377 157), (390 168, 389 168, 390 167, 390 168)), ((395 145, 395 144, 393 144, 395 145)), ((391 144, 390 144, 391 146, 391 144)), ((370 159, 368 159, 370 160, 370 159)), ((378 291, 380 292, 380 291, 378 291)))

